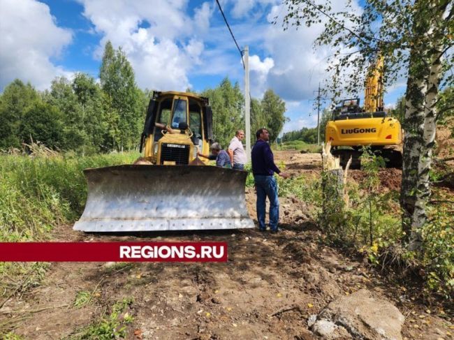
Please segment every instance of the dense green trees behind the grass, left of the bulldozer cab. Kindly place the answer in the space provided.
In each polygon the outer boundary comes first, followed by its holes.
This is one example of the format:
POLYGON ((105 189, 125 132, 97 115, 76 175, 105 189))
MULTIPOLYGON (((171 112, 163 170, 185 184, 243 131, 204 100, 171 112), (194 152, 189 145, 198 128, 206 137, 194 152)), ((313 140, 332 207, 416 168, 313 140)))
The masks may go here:
POLYGON ((43 93, 13 81, 0 95, 0 149, 31 140, 82 156, 135 149, 149 92, 138 89, 126 54, 110 43, 100 76, 101 86, 85 73, 56 77, 43 93))

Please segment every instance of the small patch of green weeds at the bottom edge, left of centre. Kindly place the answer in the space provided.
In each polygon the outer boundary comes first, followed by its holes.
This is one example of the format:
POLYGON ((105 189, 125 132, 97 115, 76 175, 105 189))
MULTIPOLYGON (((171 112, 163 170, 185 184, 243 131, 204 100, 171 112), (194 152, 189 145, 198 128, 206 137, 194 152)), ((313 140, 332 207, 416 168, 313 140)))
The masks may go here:
POLYGON ((123 299, 112 306, 110 315, 103 315, 100 320, 69 337, 72 340, 94 339, 108 340, 126 337, 126 327, 133 322, 134 318, 127 309, 133 304, 133 299, 123 299))

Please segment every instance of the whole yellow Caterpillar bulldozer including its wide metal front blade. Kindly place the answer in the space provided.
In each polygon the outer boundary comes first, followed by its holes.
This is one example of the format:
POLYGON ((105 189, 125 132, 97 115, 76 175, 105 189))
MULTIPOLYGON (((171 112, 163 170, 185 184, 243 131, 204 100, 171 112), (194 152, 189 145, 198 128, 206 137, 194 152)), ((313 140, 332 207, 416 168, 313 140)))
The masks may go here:
POLYGON ((85 210, 74 225, 85 232, 254 228, 244 194, 247 172, 206 166, 212 110, 208 98, 157 92, 140 138, 141 160, 84 170, 85 210))

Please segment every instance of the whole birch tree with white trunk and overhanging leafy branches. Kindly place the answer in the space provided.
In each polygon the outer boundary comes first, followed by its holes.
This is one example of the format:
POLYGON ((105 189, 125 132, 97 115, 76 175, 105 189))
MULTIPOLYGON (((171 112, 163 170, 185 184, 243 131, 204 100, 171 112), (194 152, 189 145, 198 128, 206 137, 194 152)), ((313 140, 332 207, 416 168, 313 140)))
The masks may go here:
POLYGON ((381 71, 386 85, 407 79, 400 204, 409 249, 420 249, 437 117, 441 114, 437 111, 439 90, 454 80, 453 2, 366 0, 360 6, 346 1, 343 8, 339 8, 341 1, 330 0, 284 3, 284 29, 323 25, 314 45, 328 45, 334 51, 327 69, 333 97, 362 90, 368 66, 378 54, 385 60, 381 71))

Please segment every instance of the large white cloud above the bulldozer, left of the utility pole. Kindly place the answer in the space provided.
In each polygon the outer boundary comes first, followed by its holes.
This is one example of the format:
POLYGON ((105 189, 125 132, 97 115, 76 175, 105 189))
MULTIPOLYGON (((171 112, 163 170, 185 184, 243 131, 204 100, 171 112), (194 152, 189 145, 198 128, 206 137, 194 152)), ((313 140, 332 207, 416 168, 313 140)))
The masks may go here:
POLYGON ((202 3, 191 17, 184 0, 82 0, 84 15, 103 34, 105 43, 122 46, 142 88, 184 90, 188 73, 201 64, 205 45, 200 38, 210 27, 212 8, 202 3), (145 24, 147 23, 147 24, 145 24))

